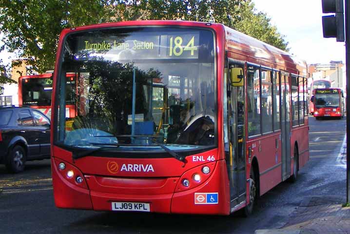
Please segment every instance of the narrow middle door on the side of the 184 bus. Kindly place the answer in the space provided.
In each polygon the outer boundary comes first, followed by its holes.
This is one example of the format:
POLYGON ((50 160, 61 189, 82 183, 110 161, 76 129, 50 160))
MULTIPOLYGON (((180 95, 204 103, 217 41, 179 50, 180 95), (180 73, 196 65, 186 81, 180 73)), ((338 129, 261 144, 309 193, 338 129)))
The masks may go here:
POLYGON ((291 92, 289 73, 281 71, 282 180, 291 175, 291 92))

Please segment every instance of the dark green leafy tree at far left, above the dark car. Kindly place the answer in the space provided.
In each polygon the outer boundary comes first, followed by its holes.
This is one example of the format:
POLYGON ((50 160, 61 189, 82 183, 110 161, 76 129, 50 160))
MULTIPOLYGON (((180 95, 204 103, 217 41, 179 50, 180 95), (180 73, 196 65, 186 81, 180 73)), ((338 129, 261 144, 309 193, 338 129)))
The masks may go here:
MULTIPOLYGON (((0 0, 4 46, 39 73, 55 64, 59 34, 67 27, 103 21, 107 0, 0 0)), ((0 48, 0 51, 4 47, 0 48)))

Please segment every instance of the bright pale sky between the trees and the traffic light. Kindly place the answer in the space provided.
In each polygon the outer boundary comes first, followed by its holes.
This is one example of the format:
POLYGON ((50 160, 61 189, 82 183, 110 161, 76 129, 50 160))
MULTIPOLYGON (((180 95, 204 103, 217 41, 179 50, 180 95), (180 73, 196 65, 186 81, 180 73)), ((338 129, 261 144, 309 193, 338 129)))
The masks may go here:
POLYGON ((345 63, 345 42, 323 38, 321 0, 253 0, 289 42, 290 53, 308 64, 345 63))

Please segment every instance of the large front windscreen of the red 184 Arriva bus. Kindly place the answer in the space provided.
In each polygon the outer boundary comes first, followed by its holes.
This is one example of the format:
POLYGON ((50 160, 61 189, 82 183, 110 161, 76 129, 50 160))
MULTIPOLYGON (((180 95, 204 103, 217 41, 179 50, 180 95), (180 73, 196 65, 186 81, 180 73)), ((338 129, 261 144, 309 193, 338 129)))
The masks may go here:
POLYGON ((78 74, 77 115, 59 111, 66 83, 58 79, 56 143, 115 151, 216 144, 212 31, 99 29, 68 35, 61 55, 59 76, 78 74))

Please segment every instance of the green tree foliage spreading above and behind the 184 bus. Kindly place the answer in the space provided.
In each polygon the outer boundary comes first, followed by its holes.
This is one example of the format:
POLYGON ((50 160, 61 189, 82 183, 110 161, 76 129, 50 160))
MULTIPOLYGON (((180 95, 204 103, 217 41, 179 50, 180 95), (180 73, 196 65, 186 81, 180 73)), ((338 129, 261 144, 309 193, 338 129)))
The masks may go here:
POLYGON ((0 0, 0 51, 17 51, 41 73, 54 67, 62 29, 121 20, 223 23, 280 49, 288 45, 251 0, 0 0))

